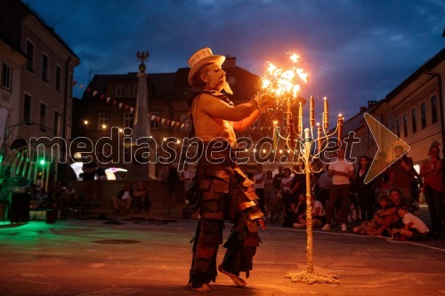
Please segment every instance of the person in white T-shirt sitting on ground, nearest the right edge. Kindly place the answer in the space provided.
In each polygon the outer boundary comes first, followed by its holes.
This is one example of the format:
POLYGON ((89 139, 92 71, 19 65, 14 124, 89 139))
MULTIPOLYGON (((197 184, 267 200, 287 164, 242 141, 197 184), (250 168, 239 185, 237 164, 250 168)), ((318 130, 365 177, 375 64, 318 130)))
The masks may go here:
POLYGON ((422 241, 428 239, 430 230, 423 220, 409 212, 409 205, 397 209, 403 222, 403 228, 393 228, 392 237, 395 240, 422 241))

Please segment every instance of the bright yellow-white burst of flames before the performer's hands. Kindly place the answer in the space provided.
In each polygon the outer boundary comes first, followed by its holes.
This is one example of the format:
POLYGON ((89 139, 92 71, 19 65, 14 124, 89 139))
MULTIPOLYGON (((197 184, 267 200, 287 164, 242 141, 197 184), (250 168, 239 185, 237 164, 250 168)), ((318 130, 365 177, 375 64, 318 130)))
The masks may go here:
POLYGON ((301 91, 301 84, 307 84, 309 75, 302 68, 296 68, 291 64, 298 62, 300 57, 295 53, 289 53, 289 64, 285 68, 278 68, 271 62, 267 62, 267 69, 260 78, 260 87, 263 92, 275 96, 279 101, 295 100, 301 91))

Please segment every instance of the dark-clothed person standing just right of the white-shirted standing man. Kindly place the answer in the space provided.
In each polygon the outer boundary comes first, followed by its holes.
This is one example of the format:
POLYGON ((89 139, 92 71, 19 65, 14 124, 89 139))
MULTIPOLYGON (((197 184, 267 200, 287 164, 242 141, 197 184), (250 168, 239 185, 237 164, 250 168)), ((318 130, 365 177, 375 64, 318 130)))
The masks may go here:
POLYGON ((365 224, 368 224, 374 215, 374 193, 373 185, 371 181, 365 184, 365 177, 369 171, 369 158, 368 156, 360 156, 359 170, 357 177, 354 180, 354 194, 357 194, 360 205, 360 218, 365 224))

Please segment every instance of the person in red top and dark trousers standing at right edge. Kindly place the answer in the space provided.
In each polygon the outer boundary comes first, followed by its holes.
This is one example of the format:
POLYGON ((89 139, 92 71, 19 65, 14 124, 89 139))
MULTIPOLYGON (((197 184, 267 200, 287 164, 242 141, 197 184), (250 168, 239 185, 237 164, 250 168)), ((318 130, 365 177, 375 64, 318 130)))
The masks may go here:
POLYGON ((442 167, 439 158, 439 147, 434 143, 428 152, 430 159, 422 164, 420 176, 424 177, 424 194, 431 218, 431 231, 433 236, 441 236, 442 212, 442 167))

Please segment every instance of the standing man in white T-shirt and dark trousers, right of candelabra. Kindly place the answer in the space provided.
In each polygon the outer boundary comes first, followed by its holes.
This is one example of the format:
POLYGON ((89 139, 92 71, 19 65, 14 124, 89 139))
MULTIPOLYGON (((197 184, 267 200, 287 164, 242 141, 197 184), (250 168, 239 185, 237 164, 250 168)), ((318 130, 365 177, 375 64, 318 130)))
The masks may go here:
POLYGON ((342 231, 348 230, 349 195, 351 192, 351 179, 354 178, 354 167, 344 159, 344 148, 336 150, 338 160, 329 164, 329 176, 332 177, 332 186, 329 192, 328 212, 326 213, 326 224, 321 230, 330 230, 329 223, 334 214, 336 200, 340 199, 342 204, 342 231))

